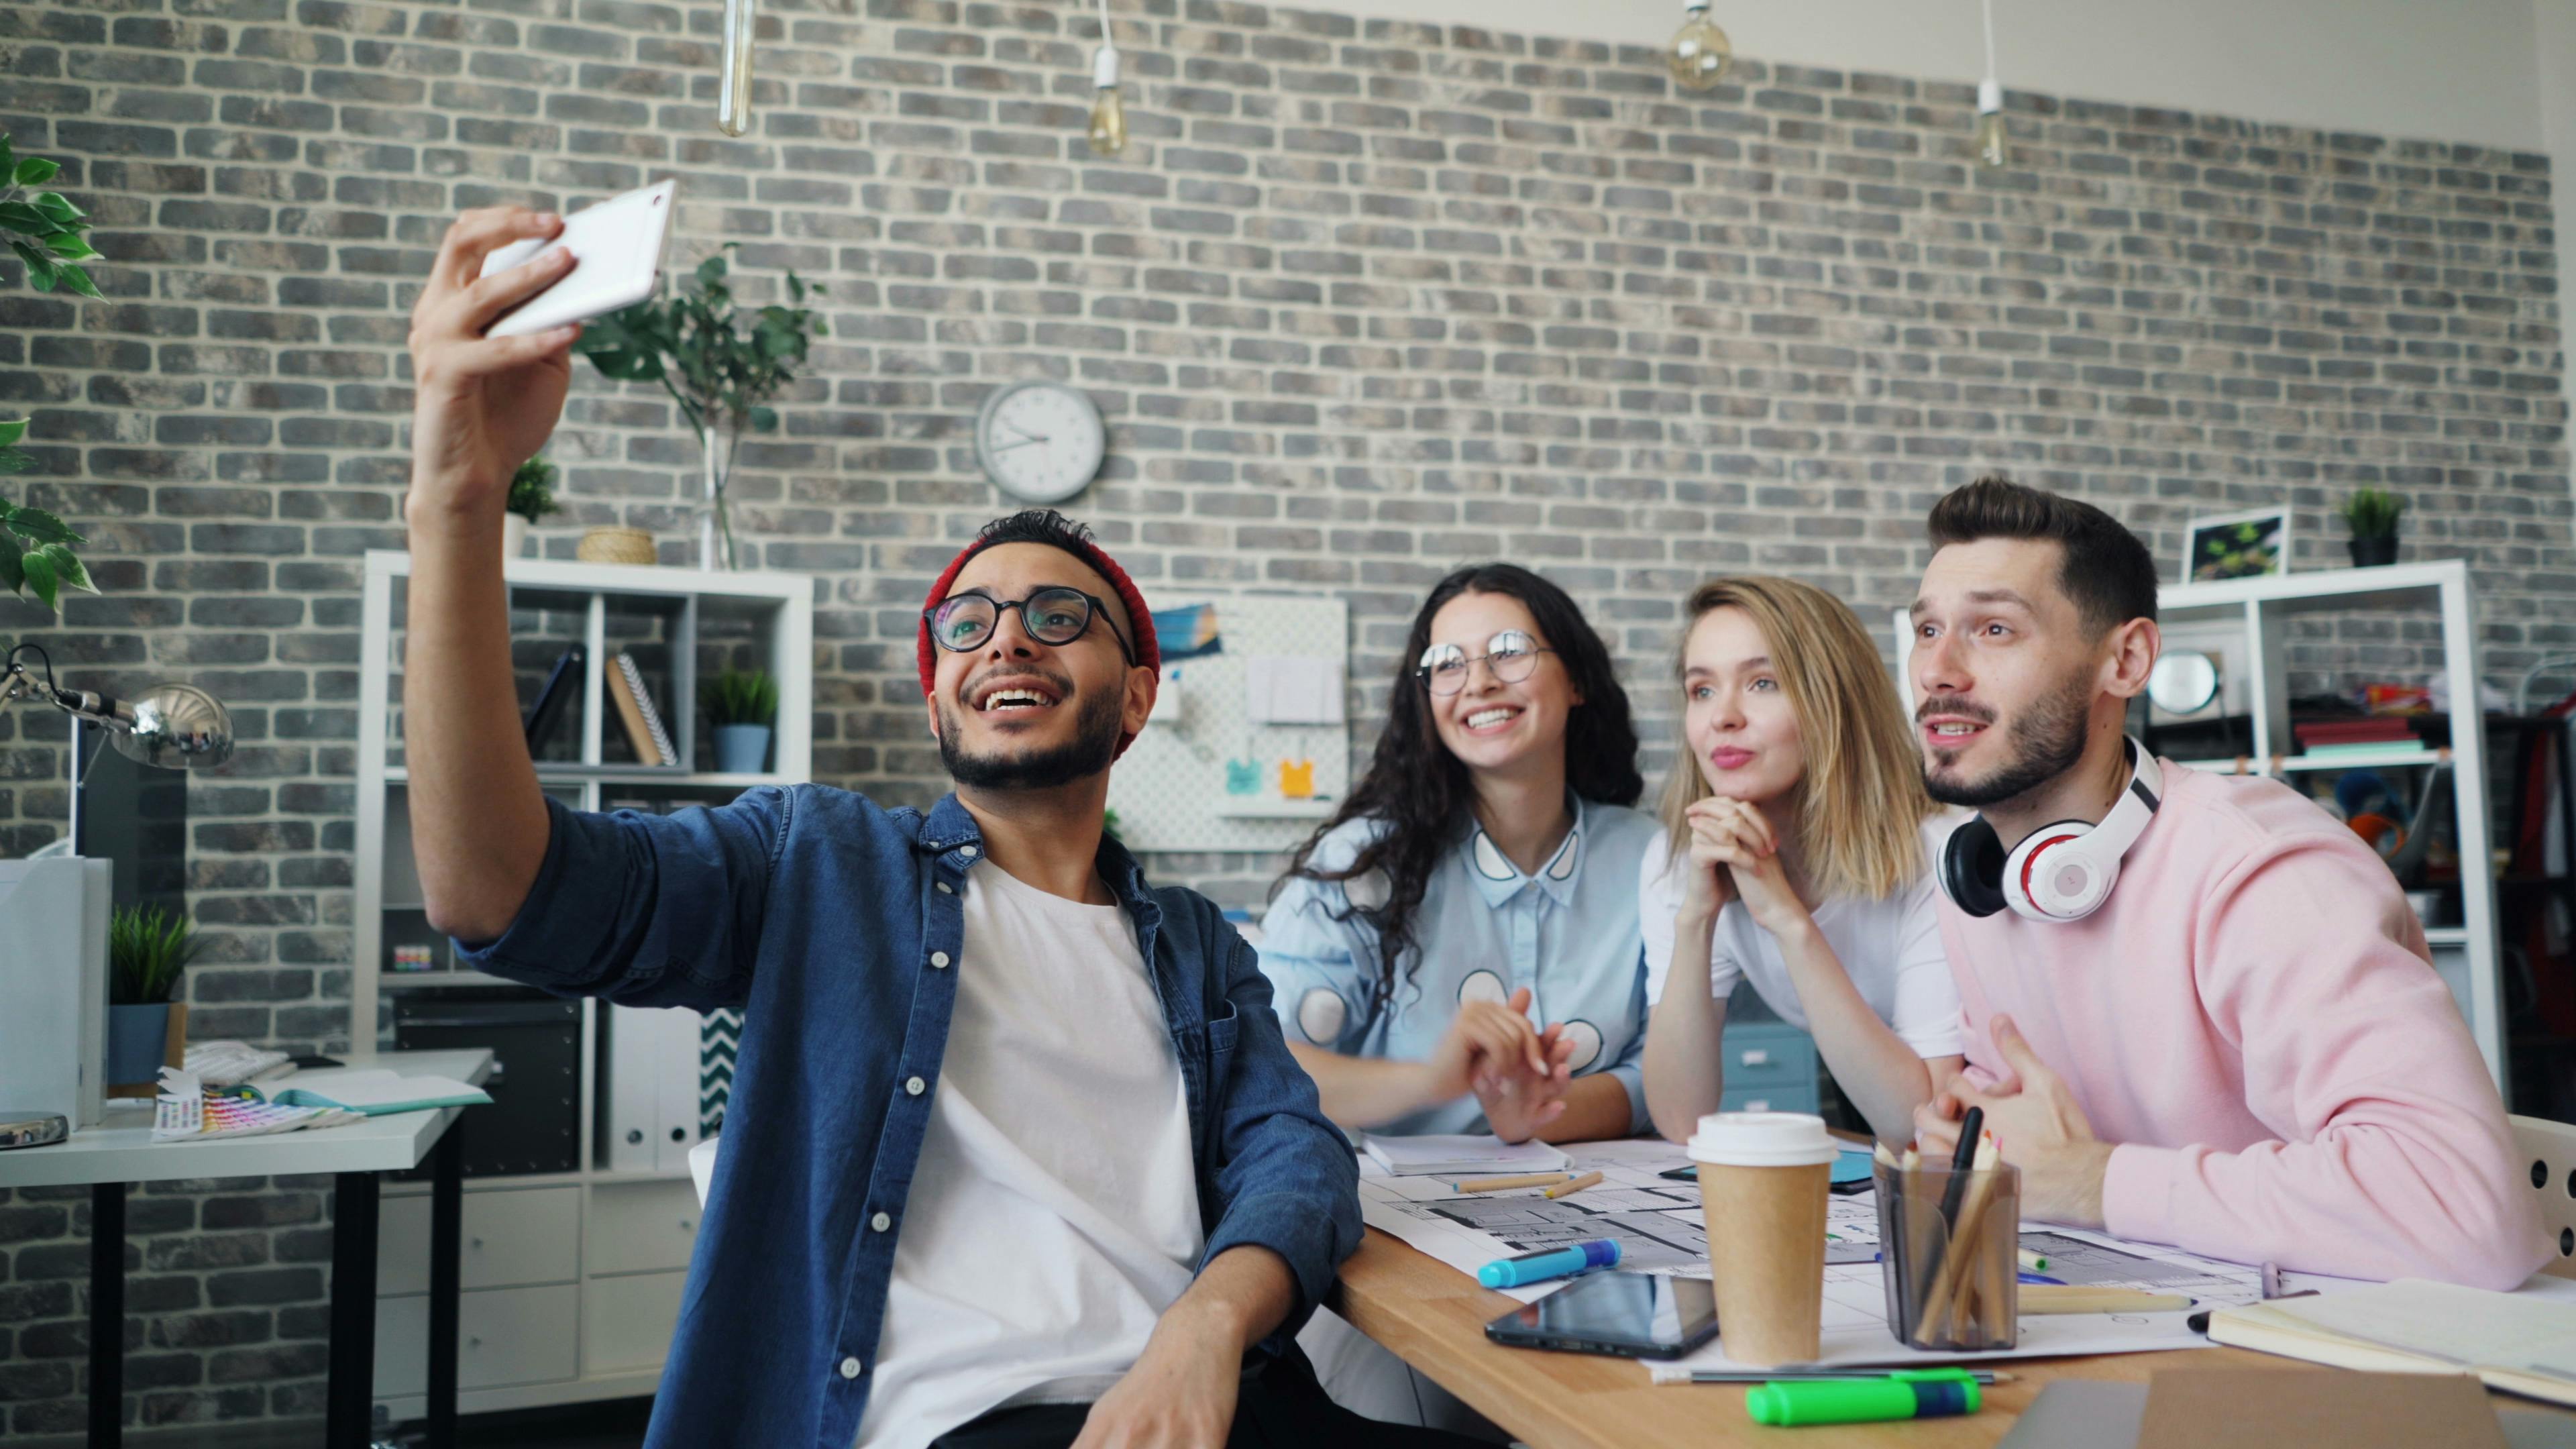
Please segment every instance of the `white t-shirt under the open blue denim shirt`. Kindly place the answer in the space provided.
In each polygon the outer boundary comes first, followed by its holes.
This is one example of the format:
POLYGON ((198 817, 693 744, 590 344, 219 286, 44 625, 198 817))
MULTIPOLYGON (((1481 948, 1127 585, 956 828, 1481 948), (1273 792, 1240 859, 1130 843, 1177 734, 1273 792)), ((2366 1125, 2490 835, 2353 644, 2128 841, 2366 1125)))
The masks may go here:
POLYGON ((1206 1248, 1180 1060, 1126 913, 992 861, 963 910, 860 1449, 1097 1400, 1206 1248))

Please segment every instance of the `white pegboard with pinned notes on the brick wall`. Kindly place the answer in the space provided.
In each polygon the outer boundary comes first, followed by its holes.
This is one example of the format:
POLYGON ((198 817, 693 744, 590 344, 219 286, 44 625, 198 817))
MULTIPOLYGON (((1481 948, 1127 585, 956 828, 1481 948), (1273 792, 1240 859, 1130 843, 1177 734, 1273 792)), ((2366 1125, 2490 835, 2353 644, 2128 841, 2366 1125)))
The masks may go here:
MULTIPOLYGON (((1291 848, 1350 794, 1350 608, 1340 598, 1146 601, 1157 614, 1190 603, 1213 606, 1218 650, 1164 665, 1154 719, 1110 771, 1118 838, 1131 851, 1291 848), (1329 663, 1340 722, 1257 724, 1249 670, 1262 660, 1329 663), (1311 799, 1283 794, 1280 761, 1314 761, 1311 799)), ((1188 647, 1159 642, 1167 660, 1188 647)))

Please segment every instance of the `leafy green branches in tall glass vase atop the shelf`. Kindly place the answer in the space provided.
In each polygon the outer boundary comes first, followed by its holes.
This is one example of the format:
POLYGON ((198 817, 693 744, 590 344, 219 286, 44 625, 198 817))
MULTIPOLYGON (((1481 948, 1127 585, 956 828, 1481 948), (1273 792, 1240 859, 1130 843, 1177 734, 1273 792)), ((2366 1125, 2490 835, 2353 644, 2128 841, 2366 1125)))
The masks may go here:
POLYGON ((734 474, 734 449, 742 433, 778 428, 778 397, 804 366, 814 338, 827 335, 822 315, 804 307, 806 284, 788 271, 793 307, 734 307, 726 284, 724 248, 698 263, 696 291, 636 302, 582 330, 574 343, 600 374, 621 382, 659 382, 680 405, 680 418, 698 436, 706 464, 706 511, 698 516, 698 567, 734 567, 734 521, 724 508, 724 487, 734 474))

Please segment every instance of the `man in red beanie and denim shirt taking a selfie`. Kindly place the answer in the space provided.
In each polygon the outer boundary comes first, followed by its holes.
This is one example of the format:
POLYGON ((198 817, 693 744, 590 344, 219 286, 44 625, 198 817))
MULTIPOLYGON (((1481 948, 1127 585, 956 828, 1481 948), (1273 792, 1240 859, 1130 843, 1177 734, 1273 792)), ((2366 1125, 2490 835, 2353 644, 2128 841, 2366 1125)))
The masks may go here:
POLYGON ((562 260, 477 276, 559 224, 466 214, 412 315, 404 745, 461 964, 744 1011, 647 1444, 1466 1444, 1350 1415, 1296 1351, 1358 1245, 1358 1173, 1252 949, 1103 835, 1159 652, 1082 526, 994 521, 933 588, 920 678, 956 792, 927 812, 799 784, 590 815, 538 789, 500 518, 574 330, 484 335, 562 260))

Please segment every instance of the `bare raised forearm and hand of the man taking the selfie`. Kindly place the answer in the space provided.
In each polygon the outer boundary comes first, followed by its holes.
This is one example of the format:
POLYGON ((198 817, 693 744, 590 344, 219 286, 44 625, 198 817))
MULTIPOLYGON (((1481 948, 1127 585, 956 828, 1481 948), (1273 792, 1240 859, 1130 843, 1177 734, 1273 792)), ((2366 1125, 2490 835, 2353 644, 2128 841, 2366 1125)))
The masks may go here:
POLYGON ((510 681, 502 505, 518 464, 554 433, 572 338, 554 327, 484 338, 515 302, 572 271, 567 250, 479 278, 484 258, 562 219, 518 206, 466 211, 412 307, 412 593, 402 740, 412 853, 430 923, 466 941, 510 928, 546 859, 546 797, 510 681))

